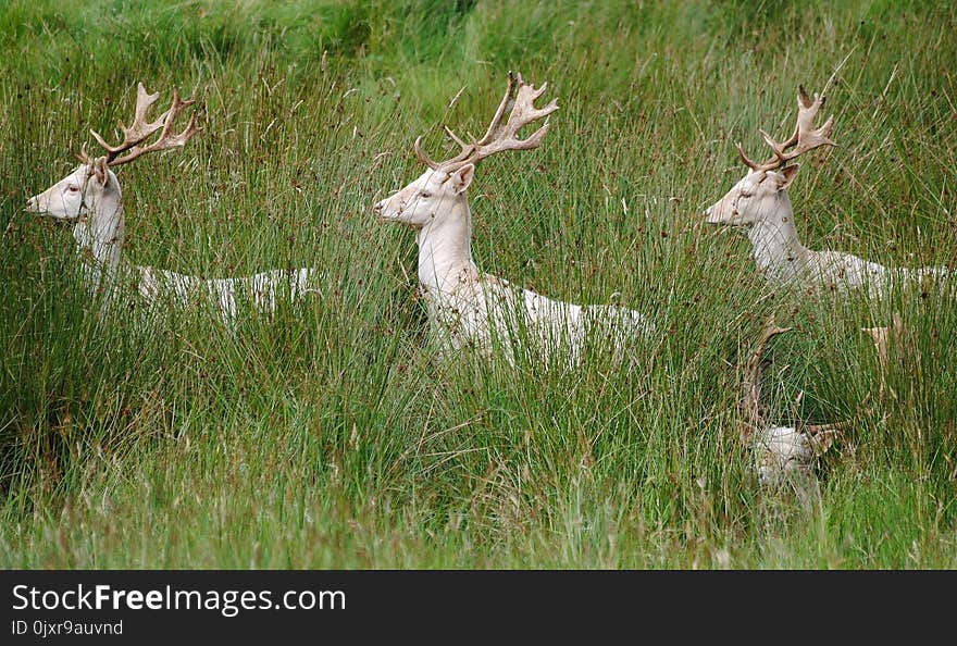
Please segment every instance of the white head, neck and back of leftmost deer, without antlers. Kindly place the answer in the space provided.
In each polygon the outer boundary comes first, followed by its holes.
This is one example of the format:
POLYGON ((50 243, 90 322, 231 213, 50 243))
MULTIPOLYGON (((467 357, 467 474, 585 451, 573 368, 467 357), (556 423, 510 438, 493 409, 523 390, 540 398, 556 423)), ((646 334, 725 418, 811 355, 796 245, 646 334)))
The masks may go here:
POLYGON ((251 276, 204 279, 123 261, 125 220, 116 175, 99 161, 82 164, 70 175, 34 196, 27 210, 57 220, 75 222, 73 237, 79 254, 84 283, 91 296, 108 307, 117 286, 130 282, 150 307, 159 303, 212 305, 228 323, 237 315, 243 298, 259 312, 275 310, 281 297, 301 299, 314 291, 313 269, 274 270, 251 276), (99 167, 98 167, 98 164, 99 167))

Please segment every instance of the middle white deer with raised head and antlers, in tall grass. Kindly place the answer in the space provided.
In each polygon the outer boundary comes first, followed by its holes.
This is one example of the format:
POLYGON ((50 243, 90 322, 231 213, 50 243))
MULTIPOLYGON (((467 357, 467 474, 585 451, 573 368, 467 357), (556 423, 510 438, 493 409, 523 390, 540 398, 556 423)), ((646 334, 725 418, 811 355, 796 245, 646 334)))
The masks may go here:
POLYGON ((446 127, 461 151, 443 162, 432 161, 422 152, 419 137, 413 148, 427 170, 373 207, 380 219, 417 231, 419 289, 440 358, 453 357, 465 347, 488 356, 498 340, 509 361, 518 351, 546 360, 560 356, 567 364, 575 365, 589 338, 621 359, 630 338, 654 330, 638 312, 552 300, 482 273, 472 260, 472 212, 467 191, 475 164, 497 152, 539 146, 548 132, 547 121, 525 139, 519 139, 518 133, 558 109, 555 100, 540 109, 534 107, 545 88, 543 84, 535 89, 522 80, 521 74, 510 72, 505 97, 485 136, 464 144, 446 127), (506 115, 508 122, 502 124, 506 115))

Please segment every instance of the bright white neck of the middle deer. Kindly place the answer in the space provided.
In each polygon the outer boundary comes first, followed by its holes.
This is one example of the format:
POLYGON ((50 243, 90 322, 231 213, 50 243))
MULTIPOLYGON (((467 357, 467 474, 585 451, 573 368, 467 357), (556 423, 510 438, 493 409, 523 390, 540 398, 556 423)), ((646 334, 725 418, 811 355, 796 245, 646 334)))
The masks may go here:
POLYGON ((419 229, 417 236, 419 285, 426 294, 451 293, 478 277, 472 261, 472 212, 465 195, 457 196, 443 215, 419 229))

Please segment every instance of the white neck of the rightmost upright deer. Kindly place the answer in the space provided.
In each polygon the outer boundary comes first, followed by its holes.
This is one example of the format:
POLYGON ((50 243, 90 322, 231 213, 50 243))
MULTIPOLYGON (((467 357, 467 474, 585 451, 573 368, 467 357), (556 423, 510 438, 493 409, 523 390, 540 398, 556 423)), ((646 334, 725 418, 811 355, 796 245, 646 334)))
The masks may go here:
POLYGON ((807 249, 794 226, 794 210, 787 191, 779 191, 774 209, 748 231, 758 270, 776 278, 791 278, 807 264, 807 249))

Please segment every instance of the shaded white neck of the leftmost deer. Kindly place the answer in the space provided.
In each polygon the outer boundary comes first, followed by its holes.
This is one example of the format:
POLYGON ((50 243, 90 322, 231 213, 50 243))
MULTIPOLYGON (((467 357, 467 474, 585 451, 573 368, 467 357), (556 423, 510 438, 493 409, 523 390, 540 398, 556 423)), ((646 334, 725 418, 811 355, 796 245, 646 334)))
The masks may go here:
POLYGON ((89 214, 73 227, 73 238, 89 287, 96 293, 112 283, 120 271, 125 224, 120 191, 104 192, 89 209, 89 214))

